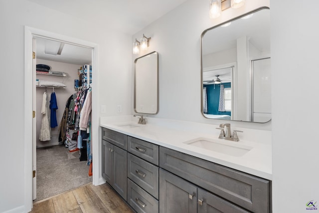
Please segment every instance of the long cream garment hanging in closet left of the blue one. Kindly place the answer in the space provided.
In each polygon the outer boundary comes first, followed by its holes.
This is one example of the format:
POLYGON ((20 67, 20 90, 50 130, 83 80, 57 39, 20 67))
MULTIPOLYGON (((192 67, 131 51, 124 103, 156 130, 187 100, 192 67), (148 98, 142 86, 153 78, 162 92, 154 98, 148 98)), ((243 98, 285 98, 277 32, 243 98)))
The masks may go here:
POLYGON ((41 129, 40 129, 40 141, 49 141, 51 140, 51 129, 50 129, 50 110, 49 110, 49 97, 47 91, 43 93, 42 98, 42 108, 41 108, 41 114, 42 114, 42 123, 41 123, 41 129))

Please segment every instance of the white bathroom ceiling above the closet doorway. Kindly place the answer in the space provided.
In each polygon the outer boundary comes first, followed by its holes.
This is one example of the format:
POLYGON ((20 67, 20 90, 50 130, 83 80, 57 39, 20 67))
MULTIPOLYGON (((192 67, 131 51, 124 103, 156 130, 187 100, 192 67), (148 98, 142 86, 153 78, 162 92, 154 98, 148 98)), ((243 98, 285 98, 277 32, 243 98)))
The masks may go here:
POLYGON ((28 1, 133 35, 186 0, 28 1))

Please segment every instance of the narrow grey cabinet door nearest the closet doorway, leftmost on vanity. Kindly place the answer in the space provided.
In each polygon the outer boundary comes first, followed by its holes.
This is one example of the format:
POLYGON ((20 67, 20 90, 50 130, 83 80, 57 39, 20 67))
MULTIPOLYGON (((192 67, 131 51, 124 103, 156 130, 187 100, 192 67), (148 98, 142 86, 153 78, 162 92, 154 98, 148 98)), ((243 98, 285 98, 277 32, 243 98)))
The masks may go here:
POLYGON ((112 144, 102 140, 102 177, 112 186, 112 144))

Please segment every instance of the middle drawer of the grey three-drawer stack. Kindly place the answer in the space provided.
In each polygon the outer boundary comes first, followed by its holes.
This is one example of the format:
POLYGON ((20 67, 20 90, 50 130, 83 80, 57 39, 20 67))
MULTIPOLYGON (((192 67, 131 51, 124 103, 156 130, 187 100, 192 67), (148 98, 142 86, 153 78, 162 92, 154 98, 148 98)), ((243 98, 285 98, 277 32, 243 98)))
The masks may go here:
POLYGON ((159 167, 129 153, 128 177, 159 199, 159 167))

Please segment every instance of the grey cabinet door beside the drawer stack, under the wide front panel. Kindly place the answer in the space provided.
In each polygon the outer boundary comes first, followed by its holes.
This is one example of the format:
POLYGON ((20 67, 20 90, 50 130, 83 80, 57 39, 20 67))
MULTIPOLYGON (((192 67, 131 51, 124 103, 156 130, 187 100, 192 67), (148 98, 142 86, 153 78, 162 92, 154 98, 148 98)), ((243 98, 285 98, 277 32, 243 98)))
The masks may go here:
POLYGON ((160 169, 160 213, 196 213, 197 188, 160 169))

